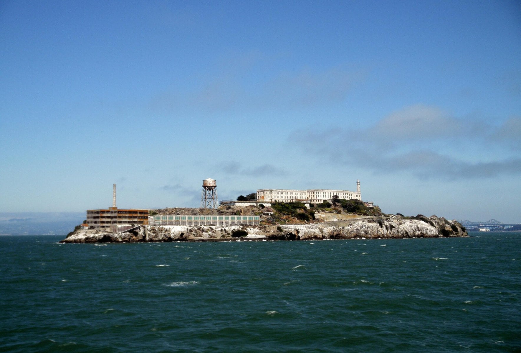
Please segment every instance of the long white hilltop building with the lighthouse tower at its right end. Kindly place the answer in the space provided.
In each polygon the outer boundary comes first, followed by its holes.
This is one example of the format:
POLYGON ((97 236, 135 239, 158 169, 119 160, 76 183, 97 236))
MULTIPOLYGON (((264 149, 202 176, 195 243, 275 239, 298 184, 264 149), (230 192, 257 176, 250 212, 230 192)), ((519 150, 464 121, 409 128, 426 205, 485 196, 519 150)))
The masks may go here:
POLYGON ((257 201, 271 202, 310 202, 322 203, 325 200, 338 196, 346 200, 357 199, 362 200, 360 193, 360 181, 356 181, 356 191, 349 190, 329 190, 329 189, 312 189, 312 190, 288 190, 288 189, 260 189, 257 190, 257 201))

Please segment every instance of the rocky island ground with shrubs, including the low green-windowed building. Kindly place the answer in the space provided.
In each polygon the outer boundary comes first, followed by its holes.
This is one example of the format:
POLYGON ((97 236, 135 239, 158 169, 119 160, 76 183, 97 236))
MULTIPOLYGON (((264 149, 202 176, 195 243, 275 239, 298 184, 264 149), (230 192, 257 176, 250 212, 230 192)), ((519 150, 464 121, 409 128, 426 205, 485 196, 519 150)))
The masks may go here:
POLYGON ((307 241, 465 237, 463 225, 443 217, 387 215, 360 200, 333 200, 307 207, 271 202, 208 208, 150 210, 147 224, 108 231, 77 226, 61 243, 307 241), (203 221, 204 219, 204 221, 203 221), (230 221, 232 219, 232 221, 230 221), (239 221, 237 219, 240 219, 239 221))

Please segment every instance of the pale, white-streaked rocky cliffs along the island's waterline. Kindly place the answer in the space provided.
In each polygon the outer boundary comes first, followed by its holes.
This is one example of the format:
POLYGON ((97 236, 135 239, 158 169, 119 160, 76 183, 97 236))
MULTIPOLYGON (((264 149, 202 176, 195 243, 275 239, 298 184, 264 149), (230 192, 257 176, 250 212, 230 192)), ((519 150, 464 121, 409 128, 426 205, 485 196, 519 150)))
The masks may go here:
POLYGON ((61 243, 216 242, 243 240, 318 240, 354 238, 464 237, 464 226, 443 217, 388 215, 315 224, 257 226, 142 225, 127 232, 77 230, 61 243), (238 232, 242 231, 242 232, 238 232), (235 234, 234 234, 235 233, 235 234), (236 236, 238 233, 245 236, 236 236))

